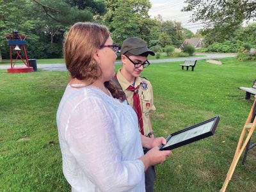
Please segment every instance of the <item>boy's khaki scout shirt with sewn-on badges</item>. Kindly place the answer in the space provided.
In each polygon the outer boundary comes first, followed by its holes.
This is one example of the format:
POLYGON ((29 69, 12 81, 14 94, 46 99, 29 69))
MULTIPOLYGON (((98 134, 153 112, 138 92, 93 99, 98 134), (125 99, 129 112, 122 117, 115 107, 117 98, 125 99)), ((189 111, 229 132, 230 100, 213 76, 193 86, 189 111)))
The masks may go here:
MULTIPOLYGON (((133 93, 132 91, 127 90, 127 88, 131 85, 124 76, 122 76, 120 69, 116 74, 117 80, 122 86, 122 89, 127 97, 127 101, 132 108, 134 108, 133 102, 133 93)), ((140 88, 138 89, 138 94, 140 97, 140 106, 141 106, 141 113, 142 113, 142 120, 143 120, 143 131, 144 135, 150 132, 149 124, 150 124, 150 117, 149 112, 155 111, 156 108, 154 106, 153 100, 153 88, 151 83, 142 77, 136 77, 134 87, 137 87, 140 84, 140 88)))

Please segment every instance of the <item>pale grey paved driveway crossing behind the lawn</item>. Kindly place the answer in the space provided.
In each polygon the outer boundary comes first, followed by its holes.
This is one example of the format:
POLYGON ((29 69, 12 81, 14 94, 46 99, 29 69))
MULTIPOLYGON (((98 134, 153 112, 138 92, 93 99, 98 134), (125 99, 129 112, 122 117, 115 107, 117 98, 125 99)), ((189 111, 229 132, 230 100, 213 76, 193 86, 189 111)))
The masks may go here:
MULTIPOLYGON (((163 62, 173 62, 173 61, 185 61, 185 60, 211 60, 220 58, 235 57, 236 54, 202 54, 201 57, 193 58, 174 58, 174 59, 164 59, 164 60, 151 60, 150 63, 163 63, 163 62)), ((116 61, 116 65, 120 65, 121 61, 116 61)), ((0 69, 10 68, 10 65, 0 65, 0 69)), ((52 64, 37 64, 37 68, 47 71, 67 71, 65 63, 52 63, 52 64)))

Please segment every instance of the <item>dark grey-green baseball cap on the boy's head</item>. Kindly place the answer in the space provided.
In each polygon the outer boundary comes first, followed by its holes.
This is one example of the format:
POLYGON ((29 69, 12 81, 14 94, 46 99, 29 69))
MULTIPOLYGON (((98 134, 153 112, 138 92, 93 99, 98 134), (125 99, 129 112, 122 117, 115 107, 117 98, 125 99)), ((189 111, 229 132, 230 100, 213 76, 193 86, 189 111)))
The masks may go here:
POLYGON ((124 54, 127 51, 131 52, 131 54, 134 54, 134 55, 140 55, 140 54, 146 54, 146 53, 151 54, 152 56, 155 55, 153 51, 148 49, 147 42, 137 37, 130 37, 124 40, 120 52, 121 54, 124 54))

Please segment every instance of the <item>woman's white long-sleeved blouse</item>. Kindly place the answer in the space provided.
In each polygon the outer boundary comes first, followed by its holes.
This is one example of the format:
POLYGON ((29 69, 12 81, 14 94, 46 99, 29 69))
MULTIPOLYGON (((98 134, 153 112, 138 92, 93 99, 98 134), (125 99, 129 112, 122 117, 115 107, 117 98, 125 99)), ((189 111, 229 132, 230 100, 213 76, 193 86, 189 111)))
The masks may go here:
POLYGON ((94 86, 67 86, 57 126, 72 191, 145 191, 138 118, 131 106, 94 86))

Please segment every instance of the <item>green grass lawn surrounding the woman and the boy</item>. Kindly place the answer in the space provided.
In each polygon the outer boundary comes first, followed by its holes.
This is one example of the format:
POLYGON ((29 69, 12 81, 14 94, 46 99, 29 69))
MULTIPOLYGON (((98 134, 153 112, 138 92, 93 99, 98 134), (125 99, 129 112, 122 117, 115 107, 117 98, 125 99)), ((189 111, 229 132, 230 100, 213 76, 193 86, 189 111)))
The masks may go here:
MULTIPOLYGON (((198 60, 195 71, 180 62, 154 63, 143 76, 154 87, 152 124, 156 136, 168 136, 220 115, 216 134, 173 150, 156 166, 155 191, 219 191, 252 107, 239 86, 251 86, 256 61, 198 60)), ((116 66, 120 67, 120 65, 116 66)), ((68 191, 61 170, 56 110, 68 83, 67 72, 7 74, 0 70, 0 191, 68 191)), ((255 134, 252 142, 256 142, 255 134)), ((256 151, 246 166, 237 164, 227 191, 256 191, 256 151)))

